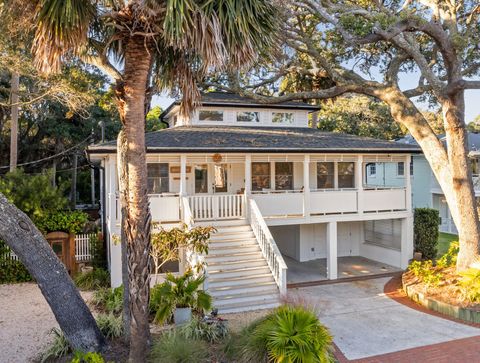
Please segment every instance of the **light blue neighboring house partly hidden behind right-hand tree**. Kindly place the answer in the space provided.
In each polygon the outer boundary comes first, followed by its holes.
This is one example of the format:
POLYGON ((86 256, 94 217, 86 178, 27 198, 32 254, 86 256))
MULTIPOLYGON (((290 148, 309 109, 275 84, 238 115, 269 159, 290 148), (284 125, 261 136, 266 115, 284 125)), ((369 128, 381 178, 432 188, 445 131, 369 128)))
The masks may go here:
MULTIPOLYGON (((446 144, 446 138, 444 135, 440 135, 439 138, 444 144, 446 144)), ((417 145, 416 141, 410 135, 397 141, 403 144, 417 145)), ((475 196, 478 201, 480 198, 480 134, 473 132, 468 133, 468 147, 470 149, 469 156, 471 160, 475 196)), ((412 175, 413 207, 437 209, 441 218, 439 230, 441 232, 458 234, 457 227, 453 222, 442 188, 433 175, 428 161, 423 154, 418 154, 412 157, 412 162, 414 169, 412 175)), ((391 173, 387 179, 393 177, 394 174, 391 173)))

